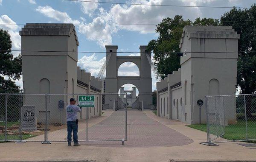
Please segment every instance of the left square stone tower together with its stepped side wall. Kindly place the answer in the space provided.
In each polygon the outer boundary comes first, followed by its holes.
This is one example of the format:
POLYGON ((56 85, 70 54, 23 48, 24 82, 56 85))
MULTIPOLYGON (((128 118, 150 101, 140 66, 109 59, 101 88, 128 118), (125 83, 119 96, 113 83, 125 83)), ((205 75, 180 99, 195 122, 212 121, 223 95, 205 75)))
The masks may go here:
MULTIPOLYGON (((24 94, 99 94, 103 93, 102 81, 77 67, 78 38, 73 24, 27 23, 20 31, 24 94), (61 51, 61 52, 40 52, 61 51)), ((52 95, 47 98, 50 122, 65 123, 65 113, 58 109, 58 101, 69 104, 76 95, 52 95)), ((35 105, 38 121, 45 117, 45 96, 25 95, 26 105, 35 105)), ((102 114, 102 96, 95 95, 95 107, 89 117, 102 114)), ((86 118, 86 109, 80 113, 86 118)))

